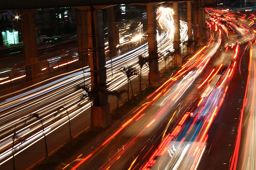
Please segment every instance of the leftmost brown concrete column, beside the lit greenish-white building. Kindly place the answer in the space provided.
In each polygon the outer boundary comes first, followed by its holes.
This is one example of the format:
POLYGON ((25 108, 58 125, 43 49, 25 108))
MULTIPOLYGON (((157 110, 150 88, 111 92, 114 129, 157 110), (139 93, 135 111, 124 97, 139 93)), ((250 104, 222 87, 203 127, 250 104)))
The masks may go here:
POLYGON ((40 82, 35 9, 21 10, 27 86, 40 82))

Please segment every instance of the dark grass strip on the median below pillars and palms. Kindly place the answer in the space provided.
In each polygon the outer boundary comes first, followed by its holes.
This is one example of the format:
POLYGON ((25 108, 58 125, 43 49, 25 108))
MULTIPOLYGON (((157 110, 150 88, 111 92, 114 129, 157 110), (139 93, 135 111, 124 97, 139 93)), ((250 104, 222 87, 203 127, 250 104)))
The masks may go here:
MULTIPOLYGON (((153 93, 156 88, 146 88, 142 91, 141 94, 134 95, 129 101, 125 101, 121 106, 115 108, 110 113, 112 116, 112 124, 130 114, 132 109, 139 107, 141 102, 143 102, 148 95, 153 93)), ((72 141, 69 141, 66 144, 63 144, 56 152, 52 153, 47 160, 42 161, 39 164, 36 164, 32 169, 33 170, 51 170, 55 169, 59 164, 68 160, 72 155, 82 149, 86 144, 89 144, 93 139, 97 138, 100 134, 106 133, 108 128, 98 128, 91 129, 87 128, 73 138, 72 141)))

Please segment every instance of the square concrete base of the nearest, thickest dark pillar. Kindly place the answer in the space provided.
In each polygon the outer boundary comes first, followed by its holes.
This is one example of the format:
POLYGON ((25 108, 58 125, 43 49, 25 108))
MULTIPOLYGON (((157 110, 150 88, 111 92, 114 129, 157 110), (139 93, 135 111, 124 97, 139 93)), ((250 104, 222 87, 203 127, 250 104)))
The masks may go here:
POLYGON ((92 128, 106 128, 111 123, 110 103, 104 106, 92 106, 92 128))

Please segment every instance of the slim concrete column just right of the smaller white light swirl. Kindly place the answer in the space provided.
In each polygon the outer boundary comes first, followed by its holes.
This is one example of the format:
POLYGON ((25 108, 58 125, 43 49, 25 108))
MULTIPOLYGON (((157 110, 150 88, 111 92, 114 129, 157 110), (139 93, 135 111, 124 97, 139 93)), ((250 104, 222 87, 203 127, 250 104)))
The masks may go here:
POLYGON ((192 35, 192 7, 191 1, 187 1, 187 22, 188 22, 188 46, 187 51, 188 53, 194 52, 194 43, 193 42, 193 35, 192 35))

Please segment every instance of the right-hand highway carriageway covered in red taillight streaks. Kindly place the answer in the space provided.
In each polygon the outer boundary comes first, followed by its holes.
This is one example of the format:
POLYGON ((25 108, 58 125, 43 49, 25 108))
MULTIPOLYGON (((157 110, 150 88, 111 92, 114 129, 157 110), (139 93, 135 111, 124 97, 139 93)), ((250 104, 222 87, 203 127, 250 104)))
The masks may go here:
POLYGON ((230 168, 254 169, 255 32, 237 19, 241 17, 239 14, 208 10, 212 15, 207 21, 211 33, 209 43, 148 96, 147 101, 133 112, 132 117, 121 123, 115 133, 89 146, 90 149, 81 150, 85 156, 70 160, 71 164, 65 162, 66 168, 206 169, 200 160, 206 159, 205 151, 209 151, 212 142, 212 139, 208 140, 208 133, 221 114, 220 108, 229 93, 234 73, 241 72, 244 53, 249 51, 249 75, 244 98, 248 103, 241 110, 246 122, 239 125, 230 168), (235 39, 229 36, 231 31, 237 35, 235 39), (246 146, 240 149, 246 156, 237 153, 239 145, 246 146))

